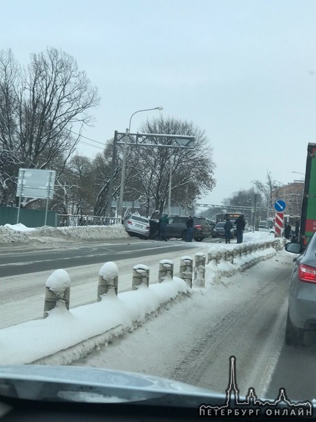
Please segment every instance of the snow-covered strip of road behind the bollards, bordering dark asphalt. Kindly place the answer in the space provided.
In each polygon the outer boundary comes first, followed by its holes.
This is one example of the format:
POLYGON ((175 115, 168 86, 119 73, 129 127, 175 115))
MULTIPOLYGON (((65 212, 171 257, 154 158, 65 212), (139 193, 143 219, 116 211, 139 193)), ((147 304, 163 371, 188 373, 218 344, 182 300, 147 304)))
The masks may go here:
MULTIPOLYGON (((174 275, 178 275, 180 259, 183 255, 197 252, 207 254, 209 244, 193 243, 191 249, 170 251, 167 254, 142 256, 140 259, 123 259, 117 262, 119 267, 119 292, 132 287, 133 266, 142 263, 150 268, 150 282, 158 281, 159 262, 162 259, 174 260, 174 275)), ((159 252, 159 251, 158 251, 159 252)), ((141 254, 141 252, 140 252, 141 254)), ((96 302, 98 288, 98 272, 103 264, 63 267, 71 279, 70 307, 96 302)), ((0 329, 8 326, 43 317, 45 300, 45 282, 52 274, 50 271, 1 277, 0 329)))

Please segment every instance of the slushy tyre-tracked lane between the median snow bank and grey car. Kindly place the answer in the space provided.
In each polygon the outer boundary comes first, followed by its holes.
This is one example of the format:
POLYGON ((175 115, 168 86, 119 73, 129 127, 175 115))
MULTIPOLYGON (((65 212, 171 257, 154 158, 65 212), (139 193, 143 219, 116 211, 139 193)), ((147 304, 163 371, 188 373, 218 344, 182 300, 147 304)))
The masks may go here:
POLYGON ((264 395, 283 347, 292 256, 280 252, 170 306, 133 333, 74 365, 144 372, 221 393, 229 358, 239 389, 264 395))

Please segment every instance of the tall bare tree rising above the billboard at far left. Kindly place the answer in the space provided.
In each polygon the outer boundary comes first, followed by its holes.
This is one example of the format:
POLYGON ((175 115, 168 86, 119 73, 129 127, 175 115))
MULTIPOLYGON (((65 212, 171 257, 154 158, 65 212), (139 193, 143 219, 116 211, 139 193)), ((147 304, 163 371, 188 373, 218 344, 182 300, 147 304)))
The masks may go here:
POLYGON ((65 52, 31 54, 22 71, 10 50, 0 52, 0 147, 22 166, 52 168, 57 156, 65 164, 79 140, 73 126, 90 124, 98 102, 96 88, 65 52))

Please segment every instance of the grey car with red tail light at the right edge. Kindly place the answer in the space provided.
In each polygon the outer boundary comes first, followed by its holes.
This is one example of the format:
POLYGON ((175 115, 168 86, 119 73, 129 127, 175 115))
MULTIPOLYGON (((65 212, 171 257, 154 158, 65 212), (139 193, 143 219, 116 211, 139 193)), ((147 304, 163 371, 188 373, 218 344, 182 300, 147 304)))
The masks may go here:
POLYGON ((316 330, 316 235, 306 247, 289 242, 287 252, 299 254, 289 279, 289 308, 285 328, 286 344, 303 344, 306 330, 316 330))

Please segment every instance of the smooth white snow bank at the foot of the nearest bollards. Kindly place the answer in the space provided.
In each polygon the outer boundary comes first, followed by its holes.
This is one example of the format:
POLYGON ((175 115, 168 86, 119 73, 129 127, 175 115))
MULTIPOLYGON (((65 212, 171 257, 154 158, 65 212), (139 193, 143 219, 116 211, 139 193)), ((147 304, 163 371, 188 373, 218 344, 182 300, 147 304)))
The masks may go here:
POLYGON ((6 365, 71 363, 113 337, 133 331, 179 293, 188 292, 186 282, 175 278, 118 296, 105 295, 98 303, 70 311, 59 300, 47 318, 0 330, 0 361, 6 365))

